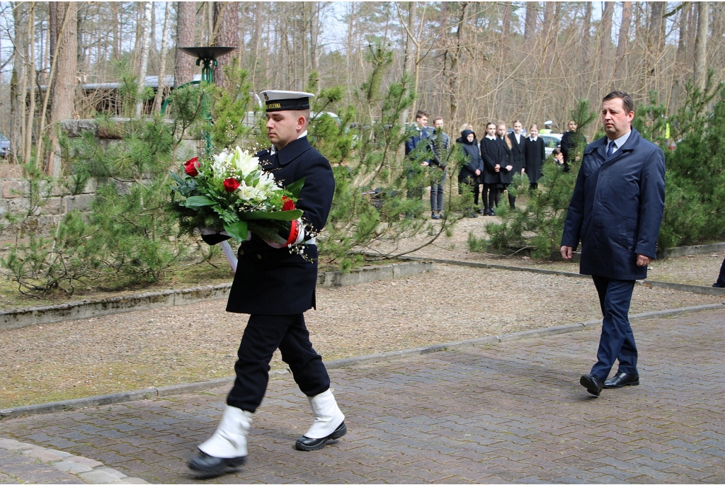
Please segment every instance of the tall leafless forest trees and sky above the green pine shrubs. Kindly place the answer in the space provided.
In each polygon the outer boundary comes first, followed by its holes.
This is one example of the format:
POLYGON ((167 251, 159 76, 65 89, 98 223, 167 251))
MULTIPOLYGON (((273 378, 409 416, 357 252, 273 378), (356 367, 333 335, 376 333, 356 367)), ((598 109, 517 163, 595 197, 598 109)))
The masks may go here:
POLYGON ((413 76, 408 120, 423 108, 449 133, 515 119, 524 128, 552 119, 561 132, 576 101, 597 106, 614 88, 635 101, 656 91, 674 113, 688 78, 704 86, 708 69, 716 81, 725 73, 725 4, 714 1, 0 2, 0 22, 0 133, 17 154, 36 138, 22 129, 31 86, 63 86, 51 88, 49 121, 88 118, 96 100, 80 86, 117 82, 117 61, 140 78, 191 80, 199 67, 177 46, 238 48, 220 64, 237 57, 256 92, 303 89, 318 72, 319 86, 345 86, 343 101, 361 107, 365 51, 381 41, 394 53, 383 82, 413 76))

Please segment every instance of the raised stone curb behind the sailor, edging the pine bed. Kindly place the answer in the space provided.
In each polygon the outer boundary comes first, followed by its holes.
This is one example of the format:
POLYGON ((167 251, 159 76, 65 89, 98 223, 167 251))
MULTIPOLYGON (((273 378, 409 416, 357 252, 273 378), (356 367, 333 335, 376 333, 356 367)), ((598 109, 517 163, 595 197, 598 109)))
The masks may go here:
MULTIPOLYGON (((349 286, 372 281, 407 278, 434 270, 431 260, 391 263, 351 270, 349 273, 328 271, 318 276, 318 286, 349 286)), ((228 297, 231 283, 197 286, 181 290, 165 290, 151 293, 112 297, 101 300, 69 302, 46 307, 30 307, 0 312, 0 330, 22 328, 63 320, 98 317, 113 313, 148 310, 150 308, 175 307, 183 304, 223 299, 228 297)))

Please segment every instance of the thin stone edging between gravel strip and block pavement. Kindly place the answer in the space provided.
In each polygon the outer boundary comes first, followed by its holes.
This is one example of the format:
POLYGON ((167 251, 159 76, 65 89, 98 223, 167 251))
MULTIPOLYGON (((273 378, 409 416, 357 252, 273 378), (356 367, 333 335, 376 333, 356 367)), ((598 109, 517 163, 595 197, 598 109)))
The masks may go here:
MULTIPOLYGON (((647 318, 656 318, 663 316, 679 315, 687 312, 700 312, 705 310, 715 310, 725 308, 725 303, 714 303, 698 305, 696 307, 675 308, 672 310, 660 310, 657 312, 644 312, 637 315, 630 315, 629 320, 646 320, 647 318)), ((481 347, 485 345, 496 345, 505 341, 514 341, 521 339, 534 339, 537 337, 558 335, 560 333, 571 333, 581 331, 586 328, 595 328, 602 325, 602 320, 587 320, 586 322, 573 323, 571 325, 556 326, 550 328, 537 328, 536 330, 528 330, 516 333, 504 333, 498 336, 486 336, 480 339, 460 340, 447 342, 444 344, 434 344, 427 347, 416 347, 413 349, 392 350, 390 352, 381 352, 379 354, 362 355, 360 357, 349 357, 347 359, 331 360, 325 362, 329 369, 345 368, 353 365, 372 364, 375 362, 387 362, 390 360, 400 359, 402 357, 412 357, 415 355, 429 354, 432 352, 447 352, 452 349, 463 349, 465 347, 481 347)), ((270 376, 281 376, 289 373, 289 370, 273 370, 270 376)), ((148 389, 140 389, 138 391, 125 391, 117 394, 105 394, 102 396, 81 397, 78 399, 69 399, 66 401, 46 402, 38 405, 9 407, 0 410, 0 422, 11 418, 20 418, 21 416, 39 415, 48 413, 57 413, 64 410, 75 410, 82 407, 94 407, 103 405, 112 405, 120 402, 136 401, 139 399, 149 399, 152 397, 171 396, 173 394, 185 394, 194 391, 203 391, 205 389, 214 389, 224 384, 231 384, 233 376, 213 379, 211 381, 194 382, 189 384, 175 384, 173 386, 149 387, 148 389)))

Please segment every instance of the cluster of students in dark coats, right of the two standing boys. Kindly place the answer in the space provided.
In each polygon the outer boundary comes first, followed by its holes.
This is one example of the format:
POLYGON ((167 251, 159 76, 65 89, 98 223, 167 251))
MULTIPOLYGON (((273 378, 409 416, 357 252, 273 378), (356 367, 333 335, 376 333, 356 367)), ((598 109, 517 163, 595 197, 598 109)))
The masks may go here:
MULTIPOLYGON (((521 121, 515 120, 512 128, 511 133, 506 133, 506 123, 488 123, 486 136, 479 142, 471 125, 462 127, 456 143, 461 145, 467 162, 458 173, 458 191, 473 192, 473 207, 465 212, 466 217, 494 215, 494 208, 498 207, 503 191, 513 182, 514 174, 527 175, 531 188, 537 188, 546 159, 539 127, 531 125, 528 136, 521 133, 521 121), (479 197, 483 209, 479 206, 479 197)), ((514 195, 508 194, 508 202, 515 209, 514 195)))

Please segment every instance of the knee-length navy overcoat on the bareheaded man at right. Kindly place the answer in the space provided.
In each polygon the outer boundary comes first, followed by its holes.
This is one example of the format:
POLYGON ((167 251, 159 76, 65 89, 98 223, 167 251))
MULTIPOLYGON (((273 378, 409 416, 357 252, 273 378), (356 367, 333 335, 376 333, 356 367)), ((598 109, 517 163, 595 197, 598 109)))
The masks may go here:
POLYGON ((647 278, 637 254, 655 257, 665 205, 665 156, 632 128, 607 158, 608 138, 587 145, 566 215, 562 246, 581 240, 579 273, 647 278))

